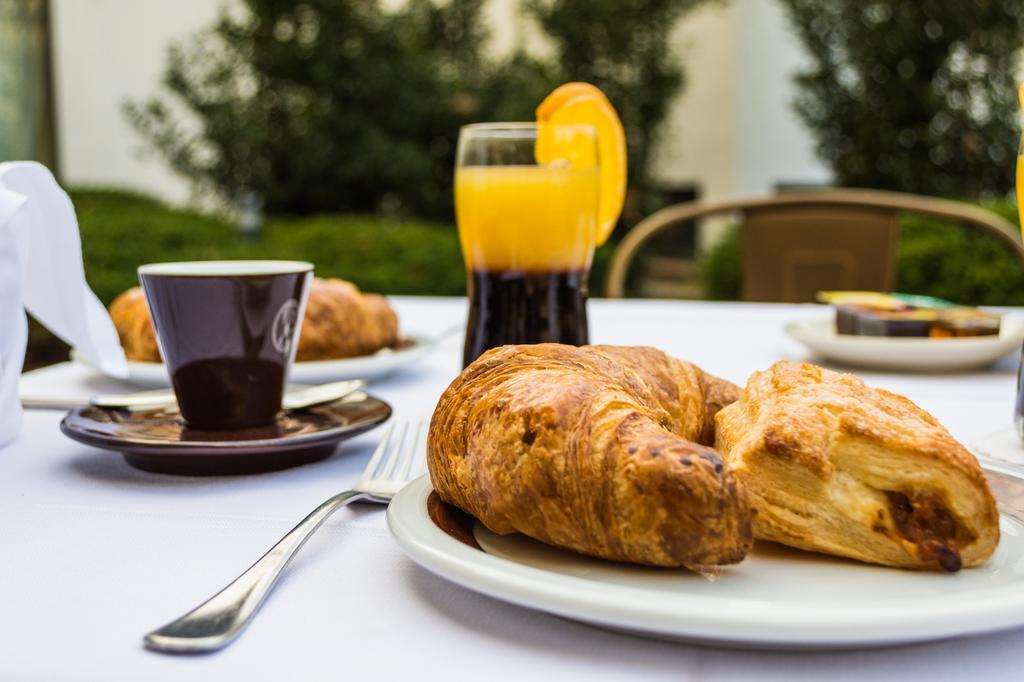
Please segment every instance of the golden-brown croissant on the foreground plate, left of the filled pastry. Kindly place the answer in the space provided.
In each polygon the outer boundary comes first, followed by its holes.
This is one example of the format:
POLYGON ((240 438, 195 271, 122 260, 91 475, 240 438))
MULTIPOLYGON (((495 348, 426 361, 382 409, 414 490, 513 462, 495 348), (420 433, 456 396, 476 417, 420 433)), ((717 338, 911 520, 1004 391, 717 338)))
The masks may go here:
POLYGON ((752 512, 709 445, 736 394, 653 348, 503 346, 441 395, 430 477, 498 534, 616 561, 735 563, 752 512))

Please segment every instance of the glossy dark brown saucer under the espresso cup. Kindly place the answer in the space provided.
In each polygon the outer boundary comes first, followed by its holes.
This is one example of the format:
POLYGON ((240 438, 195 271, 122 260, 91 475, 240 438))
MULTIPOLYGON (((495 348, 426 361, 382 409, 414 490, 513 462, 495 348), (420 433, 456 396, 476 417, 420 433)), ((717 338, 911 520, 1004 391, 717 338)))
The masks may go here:
POLYGON ((283 412, 269 426, 201 431, 177 412, 78 408, 60 422, 68 437, 113 450, 137 469, 216 476, 276 471, 330 457, 337 444, 391 416, 391 406, 356 392, 330 404, 283 412))

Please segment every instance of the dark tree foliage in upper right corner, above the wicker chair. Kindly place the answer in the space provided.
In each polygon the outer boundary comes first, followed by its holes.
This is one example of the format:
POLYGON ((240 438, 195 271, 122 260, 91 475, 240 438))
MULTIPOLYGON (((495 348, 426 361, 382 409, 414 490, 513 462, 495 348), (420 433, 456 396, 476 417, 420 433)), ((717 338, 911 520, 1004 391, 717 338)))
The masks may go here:
POLYGON ((796 105, 840 184, 1012 186, 1024 0, 781 0, 811 57, 796 105))

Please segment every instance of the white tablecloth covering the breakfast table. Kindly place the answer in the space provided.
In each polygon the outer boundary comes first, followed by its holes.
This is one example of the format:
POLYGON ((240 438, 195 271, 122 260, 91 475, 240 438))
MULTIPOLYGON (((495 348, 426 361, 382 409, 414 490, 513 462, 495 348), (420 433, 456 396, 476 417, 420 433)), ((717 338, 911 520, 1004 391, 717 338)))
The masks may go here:
MULTIPOLYGON (((398 298, 409 331, 440 331, 462 299, 398 298)), ((804 358, 781 326, 816 306, 593 301, 595 343, 649 344, 743 382, 804 358)), ((461 339, 373 392, 428 415, 457 374, 461 339)), ((863 373, 973 442, 1010 424, 1016 364, 926 376, 863 373)), ((23 391, 117 388, 61 365, 23 391)), ((124 388, 121 388, 124 390, 124 388)), ((234 578, 312 507, 354 482, 378 435, 325 462, 248 477, 147 474, 60 434, 34 411, 0 451, 0 680, 587 679, 1020 680, 1024 630, 839 653, 701 648, 596 630, 478 596, 407 559, 381 507, 339 512, 302 550, 248 632, 212 655, 146 651, 141 635, 234 578)), ((942 595, 936 595, 941 599, 942 595)))

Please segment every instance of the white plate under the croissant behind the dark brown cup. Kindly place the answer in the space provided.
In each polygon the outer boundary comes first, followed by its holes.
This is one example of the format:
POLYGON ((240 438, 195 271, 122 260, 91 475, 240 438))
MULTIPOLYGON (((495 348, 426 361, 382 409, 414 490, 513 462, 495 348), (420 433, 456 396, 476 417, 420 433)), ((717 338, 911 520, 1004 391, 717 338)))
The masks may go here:
MULTIPOLYGON (((436 338, 412 335, 404 338, 412 341, 412 345, 400 350, 385 348, 373 355, 345 357, 334 360, 294 363, 289 381, 309 385, 326 384, 331 381, 345 381, 348 379, 373 381, 419 361, 437 345, 436 338)), ((97 372, 100 371, 77 350, 73 349, 71 351, 71 358, 83 365, 88 365, 97 372)), ((167 376, 167 369, 163 363, 137 363, 129 360, 127 381, 139 386, 171 385, 171 380, 167 376)))

